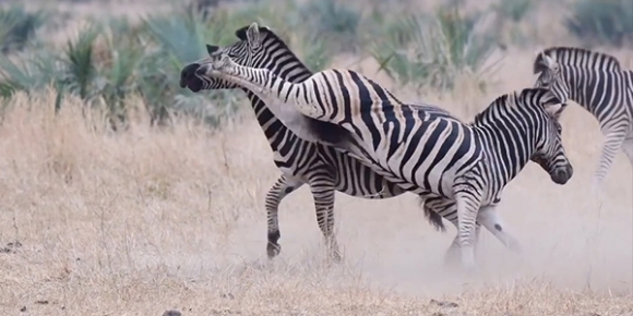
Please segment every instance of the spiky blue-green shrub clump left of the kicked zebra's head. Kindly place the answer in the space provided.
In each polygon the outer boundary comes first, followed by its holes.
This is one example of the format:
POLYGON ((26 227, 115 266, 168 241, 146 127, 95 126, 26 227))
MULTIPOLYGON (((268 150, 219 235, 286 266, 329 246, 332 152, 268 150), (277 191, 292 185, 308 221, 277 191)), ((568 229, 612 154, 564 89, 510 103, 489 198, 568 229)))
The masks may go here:
POLYGON ((40 44, 37 53, 0 58, 0 94, 7 98, 16 90, 29 94, 52 85, 59 100, 72 94, 88 106, 105 107, 112 126, 126 123, 127 100, 140 94, 155 123, 165 122, 169 112, 182 112, 215 125, 216 116, 231 113, 228 108, 238 99, 226 90, 193 94, 178 82, 187 63, 206 54, 205 42, 235 40, 237 27, 225 28, 230 19, 180 12, 150 16, 140 25, 108 20, 84 28, 62 50, 40 44), (218 107, 208 111, 210 102, 218 107))

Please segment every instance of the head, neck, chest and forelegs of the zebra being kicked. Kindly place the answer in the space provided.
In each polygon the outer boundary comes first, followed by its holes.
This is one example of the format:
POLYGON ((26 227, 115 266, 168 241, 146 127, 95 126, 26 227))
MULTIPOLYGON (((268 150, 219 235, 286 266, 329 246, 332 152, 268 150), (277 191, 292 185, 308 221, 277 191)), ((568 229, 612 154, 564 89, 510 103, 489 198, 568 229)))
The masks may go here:
MULTIPOLYGON (((312 72, 288 49, 286 44, 267 27, 256 24, 236 31, 238 41, 222 49, 238 62, 256 68, 266 68, 290 82, 302 82, 312 72)), ((217 46, 206 46, 211 54, 219 49, 217 46)), ((203 82, 194 75, 196 63, 184 66, 180 75, 180 87, 188 87, 194 93, 205 89, 234 89, 239 86, 214 80, 203 82)), ((282 200, 303 184, 310 186, 316 212, 316 221, 325 239, 330 257, 341 259, 334 233, 334 193, 343 192, 350 196, 378 199, 403 194, 399 186, 387 182, 370 168, 334 150, 330 146, 306 142, 291 131, 268 110, 266 102, 255 94, 243 89, 249 98, 258 123, 273 149, 275 166, 282 175, 268 190, 265 197, 268 258, 280 252, 278 223, 278 207, 282 200)), ((447 114, 447 112, 446 112, 447 114)), ((441 218, 434 226, 442 226, 441 218)))

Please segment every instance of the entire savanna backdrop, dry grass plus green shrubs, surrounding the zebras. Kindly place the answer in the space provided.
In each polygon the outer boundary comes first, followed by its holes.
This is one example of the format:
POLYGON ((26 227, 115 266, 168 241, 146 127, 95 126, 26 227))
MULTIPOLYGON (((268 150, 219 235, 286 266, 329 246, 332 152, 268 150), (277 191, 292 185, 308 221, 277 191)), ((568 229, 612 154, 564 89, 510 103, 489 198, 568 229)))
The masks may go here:
POLYGON ((633 68, 630 1, 22 3, 0 15, 3 315, 633 315, 633 170, 620 154, 592 195, 602 136, 577 105, 562 117, 572 180, 530 163, 500 206, 524 252, 485 232, 481 274, 464 276, 442 266, 454 228, 433 230, 409 194, 337 194, 345 259, 327 265, 302 187, 268 260, 279 171, 253 111, 240 92, 178 86, 204 44, 256 21, 314 71, 350 68, 469 120, 530 86, 548 46, 633 68))

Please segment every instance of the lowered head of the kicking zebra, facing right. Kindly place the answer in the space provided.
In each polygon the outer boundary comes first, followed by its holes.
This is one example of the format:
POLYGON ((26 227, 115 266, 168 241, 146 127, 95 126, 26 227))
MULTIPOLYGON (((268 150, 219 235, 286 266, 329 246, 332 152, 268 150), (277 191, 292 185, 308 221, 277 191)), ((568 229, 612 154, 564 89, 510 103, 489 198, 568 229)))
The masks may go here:
POLYGON ((536 150, 530 160, 547 171, 557 184, 565 184, 573 175, 574 168, 565 154, 562 142, 562 126, 559 118, 566 105, 561 104, 550 90, 536 89, 537 102, 545 109, 540 116, 539 137, 536 139, 536 150))

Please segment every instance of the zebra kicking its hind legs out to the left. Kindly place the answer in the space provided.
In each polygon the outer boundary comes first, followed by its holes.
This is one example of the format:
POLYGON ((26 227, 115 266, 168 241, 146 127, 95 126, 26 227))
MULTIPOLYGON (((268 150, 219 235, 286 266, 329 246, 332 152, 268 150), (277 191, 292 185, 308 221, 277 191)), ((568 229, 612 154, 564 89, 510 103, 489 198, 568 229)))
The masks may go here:
POLYGON ((495 206, 505 184, 529 160, 558 184, 573 174, 558 122, 564 107, 547 89, 500 96, 473 123, 464 124, 405 105, 349 70, 318 72, 295 84, 270 70, 239 65, 222 53, 200 62, 195 74, 251 90, 300 137, 335 146, 422 199, 455 205, 462 264, 467 269, 475 267, 477 222, 510 248, 518 248, 495 206))

